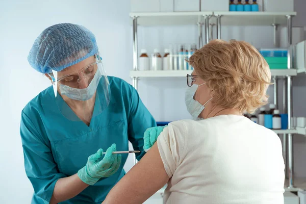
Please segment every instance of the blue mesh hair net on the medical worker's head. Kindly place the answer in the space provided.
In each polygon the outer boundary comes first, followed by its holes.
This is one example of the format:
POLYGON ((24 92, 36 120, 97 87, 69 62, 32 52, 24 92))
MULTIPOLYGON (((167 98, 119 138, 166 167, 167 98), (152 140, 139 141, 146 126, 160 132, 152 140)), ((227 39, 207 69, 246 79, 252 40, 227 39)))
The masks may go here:
POLYGON ((60 23, 35 40, 28 61, 41 73, 61 71, 98 53, 94 35, 82 25, 60 23))

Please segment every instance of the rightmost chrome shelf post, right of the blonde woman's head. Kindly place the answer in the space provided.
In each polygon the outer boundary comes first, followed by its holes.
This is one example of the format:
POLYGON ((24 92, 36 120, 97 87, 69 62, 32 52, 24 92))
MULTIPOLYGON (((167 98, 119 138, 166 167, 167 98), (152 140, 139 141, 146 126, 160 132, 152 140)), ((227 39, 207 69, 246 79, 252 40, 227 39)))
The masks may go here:
MULTIPOLYGON (((288 30, 288 69, 292 69, 292 18, 287 15, 287 30, 288 30)), ((288 129, 292 129, 292 77, 287 76, 287 112, 288 112, 288 129)), ((293 137, 288 134, 288 174, 289 187, 294 188, 293 183, 293 137)))

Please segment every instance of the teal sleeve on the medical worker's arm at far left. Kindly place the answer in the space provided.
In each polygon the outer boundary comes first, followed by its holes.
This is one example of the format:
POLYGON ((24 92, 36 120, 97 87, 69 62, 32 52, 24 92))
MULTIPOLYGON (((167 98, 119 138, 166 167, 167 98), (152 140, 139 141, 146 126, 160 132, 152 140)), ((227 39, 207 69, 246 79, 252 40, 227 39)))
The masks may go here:
POLYGON ((24 112, 21 115, 20 136, 25 172, 36 195, 49 202, 57 180, 65 175, 57 171, 48 141, 24 112))

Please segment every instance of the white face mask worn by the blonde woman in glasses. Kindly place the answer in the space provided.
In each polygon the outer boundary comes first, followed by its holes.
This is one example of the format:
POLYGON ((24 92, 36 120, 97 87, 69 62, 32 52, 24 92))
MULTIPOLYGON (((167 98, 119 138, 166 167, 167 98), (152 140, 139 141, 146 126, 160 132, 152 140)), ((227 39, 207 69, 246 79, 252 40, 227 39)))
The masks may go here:
POLYGON ((193 96, 197 88, 201 85, 194 84, 191 87, 188 87, 185 93, 185 104, 188 112, 190 113, 190 115, 193 117, 194 120, 198 120, 198 116, 205 109, 205 105, 212 99, 212 98, 209 99, 204 105, 201 105, 197 100, 193 99, 193 96))

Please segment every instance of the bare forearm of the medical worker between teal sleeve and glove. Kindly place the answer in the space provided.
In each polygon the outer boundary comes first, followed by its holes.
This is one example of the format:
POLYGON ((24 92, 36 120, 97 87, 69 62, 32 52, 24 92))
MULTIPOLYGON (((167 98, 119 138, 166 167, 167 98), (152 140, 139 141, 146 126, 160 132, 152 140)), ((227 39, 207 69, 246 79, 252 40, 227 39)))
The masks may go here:
POLYGON ((88 184, 85 184, 79 178, 77 173, 69 177, 59 179, 55 184, 50 204, 59 203, 73 198, 88 186, 88 184))

